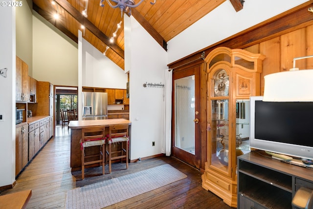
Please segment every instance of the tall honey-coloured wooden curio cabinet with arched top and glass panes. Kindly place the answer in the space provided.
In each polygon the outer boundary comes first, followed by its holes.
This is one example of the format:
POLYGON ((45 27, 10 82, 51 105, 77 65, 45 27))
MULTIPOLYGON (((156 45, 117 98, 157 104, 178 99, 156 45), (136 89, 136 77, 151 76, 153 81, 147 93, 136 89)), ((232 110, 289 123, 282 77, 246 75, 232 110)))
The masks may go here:
POLYGON ((260 95, 261 54, 218 47, 207 63, 207 162, 202 187, 237 207, 237 156, 248 152, 249 97, 260 95), (245 136, 244 136, 245 135, 245 136))

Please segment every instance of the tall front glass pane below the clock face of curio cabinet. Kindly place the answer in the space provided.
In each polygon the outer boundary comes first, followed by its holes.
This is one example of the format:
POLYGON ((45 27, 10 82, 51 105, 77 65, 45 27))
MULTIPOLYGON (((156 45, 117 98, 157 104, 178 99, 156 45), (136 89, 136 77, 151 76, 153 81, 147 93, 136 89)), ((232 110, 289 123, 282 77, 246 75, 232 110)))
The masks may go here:
POLYGON ((228 171, 228 99, 211 100, 211 165, 228 171))

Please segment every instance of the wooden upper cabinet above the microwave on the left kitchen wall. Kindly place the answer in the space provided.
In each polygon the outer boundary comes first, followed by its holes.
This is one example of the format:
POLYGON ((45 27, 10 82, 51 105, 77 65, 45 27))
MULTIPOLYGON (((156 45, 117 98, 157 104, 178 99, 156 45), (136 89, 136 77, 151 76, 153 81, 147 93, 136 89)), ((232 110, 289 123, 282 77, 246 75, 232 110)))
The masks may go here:
POLYGON ((29 101, 28 65, 16 57, 16 101, 29 101))

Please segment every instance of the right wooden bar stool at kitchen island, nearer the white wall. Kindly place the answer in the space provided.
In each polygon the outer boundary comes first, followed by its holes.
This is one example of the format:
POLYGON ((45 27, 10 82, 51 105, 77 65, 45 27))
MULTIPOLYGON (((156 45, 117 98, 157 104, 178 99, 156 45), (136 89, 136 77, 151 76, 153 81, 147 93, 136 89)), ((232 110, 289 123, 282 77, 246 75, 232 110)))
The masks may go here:
POLYGON ((107 136, 106 153, 109 161, 109 172, 112 172, 112 161, 123 159, 126 161, 126 169, 128 169, 128 151, 129 151, 129 125, 119 124, 109 126, 109 136, 107 136), (112 144, 114 151, 112 151, 112 144))

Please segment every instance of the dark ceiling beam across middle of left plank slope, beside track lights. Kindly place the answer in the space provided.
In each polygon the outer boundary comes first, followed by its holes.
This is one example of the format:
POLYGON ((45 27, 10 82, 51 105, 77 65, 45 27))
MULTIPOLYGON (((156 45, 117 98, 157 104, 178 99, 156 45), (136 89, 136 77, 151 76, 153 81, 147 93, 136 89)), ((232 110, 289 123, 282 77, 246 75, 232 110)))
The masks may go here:
POLYGON ((54 0, 60 6, 62 6, 73 18, 79 23, 83 24, 93 35, 100 39, 105 45, 115 51, 120 57, 124 59, 124 50, 114 43, 110 42, 110 38, 106 36, 101 30, 99 30, 94 24, 92 24, 87 18, 84 17, 79 11, 77 11, 67 0, 54 0))

